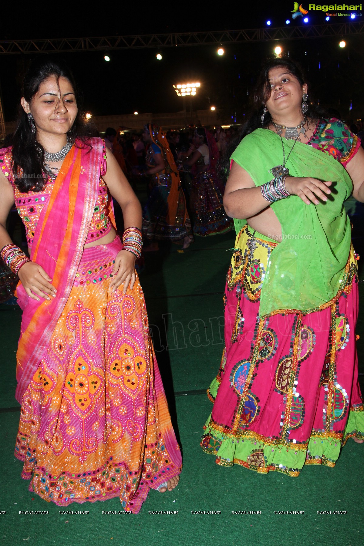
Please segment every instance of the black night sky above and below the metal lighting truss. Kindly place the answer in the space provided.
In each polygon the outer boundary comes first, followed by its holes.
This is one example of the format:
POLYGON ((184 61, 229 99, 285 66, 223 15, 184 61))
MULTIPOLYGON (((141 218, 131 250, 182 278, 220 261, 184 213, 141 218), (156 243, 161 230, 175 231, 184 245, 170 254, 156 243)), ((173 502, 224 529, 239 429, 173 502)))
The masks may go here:
MULTIPOLYGON (((226 5, 224 10, 217 10, 217 5, 216 2, 205 2, 204 7, 201 7, 201 3, 138 2, 133 9, 108 7, 105 13, 100 6, 97 12, 86 7, 88 15, 84 15, 76 8, 65 5, 50 11, 39 4, 41 11, 37 14, 31 10, 17 20, 18 5, 13 10, 2 8, 2 16, 9 21, 9 25, 2 25, 0 39, 261 28, 267 19, 271 19, 272 26, 285 26, 285 20, 290 19, 293 9, 291 1, 281 2, 278 6, 272 2, 221 3, 226 5), (208 8, 208 5, 213 7, 208 8), (256 7, 249 9, 249 5, 256 7)), ((303 7, 305 5, 303 3, 303 7)), ((324 13, 312 15, 310 11, 309 17, 309 23, 325 23, 324 13)), ((302 24, 301 21, 291 20, 290 25, 302 24)), ((353 112, 356 115, 363 112, 364 115, 364 37, 345 39, 348 47, 344 50, 337 46, 339 37, 291 40, 279 45, 306 69, 308 81, 321 104, 339 109, 343 117, 348 117, 351 100, 353 112)), ((220 111, 229 114, 236 111, 237 121, 241 121, 248 109, 248 92, 252 89, 260 64, 272 54, 275 45, 268 42, 225 44, 223 57, 216 55, 215 46, 166 48, 162 51, 162 61, 156 60, 157 51, 153 49, 111 51, 109 63, 104 61, 103 52, 59 56, 73 70, 83 90, 85 109, 94 115, 128 114, 134 110, 154 113, 181 110, 181 98, 173 91, 172 84, 178 80, 196 79, 201 81, 202 86, 194 98, 194 109, 208 108, 210 98, 210 104, 216 105, 220 111)), ((28 59, 29 56, 0 56, 5 121, 11 121, 16 116, 20 74, 28 59)))

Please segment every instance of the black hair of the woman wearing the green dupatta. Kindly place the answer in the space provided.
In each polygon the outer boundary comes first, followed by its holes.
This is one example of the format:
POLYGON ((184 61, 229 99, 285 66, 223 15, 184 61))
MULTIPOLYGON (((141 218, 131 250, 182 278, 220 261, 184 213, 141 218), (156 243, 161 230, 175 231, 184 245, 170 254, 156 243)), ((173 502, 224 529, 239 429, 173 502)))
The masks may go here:
MULTIPOLYGON (((230 156, 232 152, 236 149, 237 145, 242 141, 244 136, 252 133, 255 129, 259 127, 267 127, 272 122, 272 117, 269 112, 266 112, 264 116, 264 123, 261 123, 261 115, 263 114, 264 106, 266 100, 271 96, 271 84, 269 81, 269 72, 272 68, 283 67, 287 69, 288 72, 293 74, 295 78, 300 82, 300 85, 307 84, 307 79, 303 73, 302 68, 299 63, 292 61, 289 57, 274 57, 268 58, 262 66, 258 79, 256 80, 254 92, 252 95, 251 104, 250 104, 250 114, 246 123, 243 124, 240 132, 237 136, 232 139, 226 150, 217 165, 217 170, 220 177, 226 181, 229 176, 230 168, 230 156)), ((320 119, 326 117, 326 112, 319 106, 311 104, 312 102, 312 93, 310 89, 310 98, 307 102, 307 118, 311 119, 320 119)))

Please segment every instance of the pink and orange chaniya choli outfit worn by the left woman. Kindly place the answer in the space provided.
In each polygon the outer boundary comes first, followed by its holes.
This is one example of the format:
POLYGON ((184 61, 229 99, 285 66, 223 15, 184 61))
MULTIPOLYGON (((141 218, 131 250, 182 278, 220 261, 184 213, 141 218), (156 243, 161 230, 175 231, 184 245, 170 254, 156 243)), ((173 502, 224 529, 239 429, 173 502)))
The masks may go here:
POLYGON ((16 398, 21 417, 15 456, 22 477, 59 506, 120 497, 138 513, 148 491, 180 473, 148 331, 144 295, 113 294, 110 274, 120 238, 83 250, 114 222, 102 179, 102 140, 73 146, 54 183, 20 193, 11 149, 0 167, 13 185, 31 259, 53 279, 57 297, 37 302, 21 284, 16 398))

